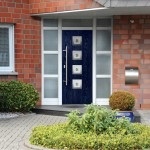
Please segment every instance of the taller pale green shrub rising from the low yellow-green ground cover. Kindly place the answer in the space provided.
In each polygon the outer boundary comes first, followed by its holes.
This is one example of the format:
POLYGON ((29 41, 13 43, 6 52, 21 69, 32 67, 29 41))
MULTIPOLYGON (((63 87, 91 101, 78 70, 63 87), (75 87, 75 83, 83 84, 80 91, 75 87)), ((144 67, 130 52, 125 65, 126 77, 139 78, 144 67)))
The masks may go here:
POLYGON ((79 133, 92 132, 101 134, 104 132, 120 132, 122 129, 130 132, 132 131, 130 125, 129 121, 125 118, 116 119, 116 111, 100 106, 88 105, 82 116, 77 111, 73 111, 68 115, 67 129, 79 133))

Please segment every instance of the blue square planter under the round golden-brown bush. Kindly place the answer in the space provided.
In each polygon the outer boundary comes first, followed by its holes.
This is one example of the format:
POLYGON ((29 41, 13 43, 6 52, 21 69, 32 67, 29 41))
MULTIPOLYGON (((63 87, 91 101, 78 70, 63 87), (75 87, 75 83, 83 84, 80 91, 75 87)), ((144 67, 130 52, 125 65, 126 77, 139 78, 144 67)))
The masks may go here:
POLYGON ((117 111, 117 118, 126 117, 130 122, 134 122, 133 111, 117 111))

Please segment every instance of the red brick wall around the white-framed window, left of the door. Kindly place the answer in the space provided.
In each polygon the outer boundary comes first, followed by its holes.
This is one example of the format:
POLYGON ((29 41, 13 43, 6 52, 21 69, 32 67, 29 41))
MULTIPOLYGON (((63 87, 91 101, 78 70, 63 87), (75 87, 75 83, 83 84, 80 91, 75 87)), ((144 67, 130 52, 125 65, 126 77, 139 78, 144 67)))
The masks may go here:
POLYGON ((0 1, 0 23, 14 24, 15 71, 18 76, 0 76, 1 80, 18 78, 41 91, 40 19, 31 18, 28 0, 0 1))

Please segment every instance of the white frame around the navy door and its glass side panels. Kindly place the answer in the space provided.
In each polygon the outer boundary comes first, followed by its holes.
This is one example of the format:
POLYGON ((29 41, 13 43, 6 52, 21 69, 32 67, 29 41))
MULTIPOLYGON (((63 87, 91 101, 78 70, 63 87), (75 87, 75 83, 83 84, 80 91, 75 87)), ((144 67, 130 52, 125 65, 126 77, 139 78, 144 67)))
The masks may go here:
MULTIPOLYGON (((110 18, 110 17, 109 17, 110 18)), ((45 19, 45 18, 44 18, 45 19)), ((48 18, 50 19, 50 18, 48 18)), ((65 18, 63 18, 65 19, 65 18)), ((68 19, 68 18, 67 18, 68 19)), ((41 91, 41 104, 42 105, 62 105, 62 30, 91 30, 93 33, 92 39, 92 103, 98 105, 108 105, 108 99, 97 99, 96 98, 96 19, 93 18, 92 27, 62 27, 62 18, 58 19, 58 27, 53 28, 58 30, 58 98, 44 98, 44 41, 43 41, 43 20, 41 21, 41 38, 42 38, 42 91, 41 91)), ((100 19, 100 18, 99 18, 100 19)), ((112 28, 112 27, 111 27, 112 28)), ((112 33, 112 29, 111 29, 112 33)), ((112 39, 112 36, 111 36, 112 39)), ((111 93, 112 93, 112 43, 111 43, 111 93)))

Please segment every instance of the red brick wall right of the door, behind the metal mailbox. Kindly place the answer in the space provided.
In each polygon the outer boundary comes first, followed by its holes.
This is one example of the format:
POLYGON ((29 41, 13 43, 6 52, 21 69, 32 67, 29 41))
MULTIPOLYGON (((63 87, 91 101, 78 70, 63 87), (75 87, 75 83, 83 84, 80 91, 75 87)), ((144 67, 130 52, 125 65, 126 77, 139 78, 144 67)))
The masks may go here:
POLYGON ((136 107, 150 108, 150 15, 114 16, 113 39, 113 90, 128 90, 136 107), (139 85, 125 85, 126 66, 139 67, 139 85))

